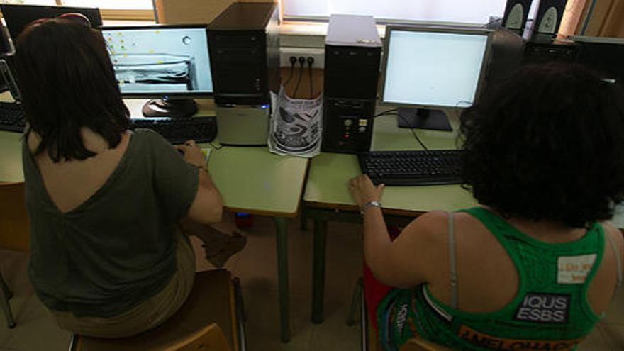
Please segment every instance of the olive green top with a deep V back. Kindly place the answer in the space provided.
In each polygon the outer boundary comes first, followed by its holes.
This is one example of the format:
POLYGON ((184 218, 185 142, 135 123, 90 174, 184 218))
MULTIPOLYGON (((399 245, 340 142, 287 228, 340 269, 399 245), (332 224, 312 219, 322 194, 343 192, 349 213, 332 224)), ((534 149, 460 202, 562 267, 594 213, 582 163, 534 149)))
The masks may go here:
POLYGON ((176 269, 177 221, 197 193, 198 169, 150 130, 128 149, 103 186, 61 212, 23 143, 30 217, 28 274, 45 306, 111 317, 162 290, 176 269))

